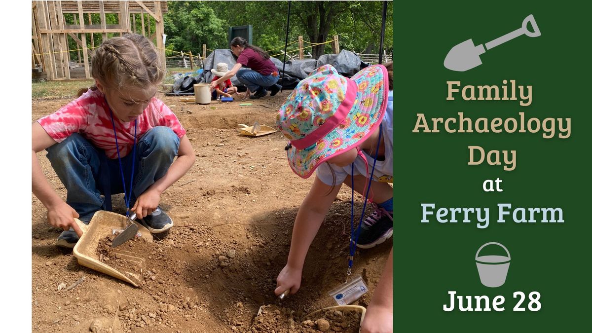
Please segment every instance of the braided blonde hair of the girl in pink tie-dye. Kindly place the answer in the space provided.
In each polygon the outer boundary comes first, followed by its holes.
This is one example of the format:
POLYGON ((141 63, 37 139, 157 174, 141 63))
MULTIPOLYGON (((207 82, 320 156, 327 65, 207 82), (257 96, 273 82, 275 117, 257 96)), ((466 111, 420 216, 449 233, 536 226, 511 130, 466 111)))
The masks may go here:
MULTIPOLYGON (((92 77, 111 89, 158 85, 164 72, 152 42, 139 34, 124 34, 104 41, 92 58, 92 77)), ((91 90, 96 90, 93 85, 91 90)), ((87 89, 80 89, 78 97, 87 89)))

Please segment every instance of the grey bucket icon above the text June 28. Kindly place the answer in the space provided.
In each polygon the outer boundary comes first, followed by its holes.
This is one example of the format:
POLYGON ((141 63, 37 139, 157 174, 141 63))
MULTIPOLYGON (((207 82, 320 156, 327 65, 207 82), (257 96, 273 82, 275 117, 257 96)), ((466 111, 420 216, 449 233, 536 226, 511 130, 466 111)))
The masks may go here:
POLYGON ((477 271, 479 272, 479 278, 481 283, 485 287, 499 287, 506 282, 506 276, 508 274, 508 268, 510 268, 510 252, 506 246, 501 245, 497 242, 489 242, 481 245, 475 254, 475 262, 477 263, 477 271), (479 257, 479 252, 487 245, 499 245, 508 256, 504 255, 482 255, 479 257))

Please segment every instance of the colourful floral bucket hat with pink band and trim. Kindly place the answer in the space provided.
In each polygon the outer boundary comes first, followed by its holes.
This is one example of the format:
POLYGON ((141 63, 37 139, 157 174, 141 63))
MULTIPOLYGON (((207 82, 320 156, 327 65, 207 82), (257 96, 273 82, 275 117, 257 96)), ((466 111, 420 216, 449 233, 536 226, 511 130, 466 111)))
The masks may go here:
POLYGON ((276 122, 289 143, 288 162, 308 178, 329 158, 360 145, 378 129, 388 103, 388 73, 368 66, 351 79, 331 65, 311 72, 279 108, 276 122))

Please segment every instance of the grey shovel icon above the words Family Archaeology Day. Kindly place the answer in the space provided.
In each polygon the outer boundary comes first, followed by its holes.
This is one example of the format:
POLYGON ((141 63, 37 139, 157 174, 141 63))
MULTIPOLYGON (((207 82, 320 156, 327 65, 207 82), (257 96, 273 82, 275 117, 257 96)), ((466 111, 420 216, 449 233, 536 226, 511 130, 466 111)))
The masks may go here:
POLYGON ((528 37, 539 37, 540 30, 536 25, 535 17, 532 14, 528 15, 524 21, 522 21, 522 27, 517 30, 507 33, 504 36, 498 37, 488 43, 479 44, 475 46, 472 39, 465 40, 462 43, 452 47, 452 49, 446 55, 444 59, 444 67, 451 71, 464 72, 471 68, 475 68, 481 65, 481 55, 485 53, 485 50, 491 50, 494 47, 505 43, 506 41, 512 40, 518 36, 525 34, 528 37), (528 30, 528 23, 532 25, 533 31, 528 30))

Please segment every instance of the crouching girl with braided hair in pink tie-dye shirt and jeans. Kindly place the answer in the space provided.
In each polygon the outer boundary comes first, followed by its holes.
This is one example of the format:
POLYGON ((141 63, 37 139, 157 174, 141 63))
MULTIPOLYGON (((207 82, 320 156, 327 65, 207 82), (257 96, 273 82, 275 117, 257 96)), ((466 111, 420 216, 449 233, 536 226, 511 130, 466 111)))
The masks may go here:
POLYGON ((48 222, 65 230, 57 245, 73 247, 97 210, 111 210, 111 194, 124 193, 128 212, 153 233, 173 226, 160 210, 160 194, 195 161, 185 129, 155 97, 160 58, 146 37, 126 34, 101 44, 92 59, 95 85, 56 113, 33 123, 33 193, 48 222), (64 202, 41 171, 47 158, 67 190, 64 202), (175 159, 176 157, 176 159, 175 159))

